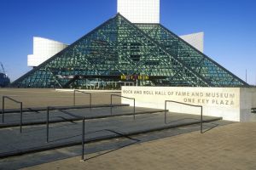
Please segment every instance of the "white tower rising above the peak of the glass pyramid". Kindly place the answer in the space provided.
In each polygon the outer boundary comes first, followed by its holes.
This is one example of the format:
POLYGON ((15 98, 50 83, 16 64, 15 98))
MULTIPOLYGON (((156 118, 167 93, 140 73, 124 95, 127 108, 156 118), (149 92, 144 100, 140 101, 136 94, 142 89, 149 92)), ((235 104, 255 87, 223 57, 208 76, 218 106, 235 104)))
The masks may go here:
POLYGON ((160 23, 160 0, 118 0, 118 13, 132 23, 160 23))

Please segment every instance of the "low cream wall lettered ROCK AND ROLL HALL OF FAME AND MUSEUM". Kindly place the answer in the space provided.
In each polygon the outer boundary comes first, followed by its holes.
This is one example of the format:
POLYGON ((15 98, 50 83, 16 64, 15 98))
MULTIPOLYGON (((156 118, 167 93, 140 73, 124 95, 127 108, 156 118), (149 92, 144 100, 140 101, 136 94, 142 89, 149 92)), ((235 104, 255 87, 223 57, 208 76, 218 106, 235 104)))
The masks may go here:
MULTIPOLYGON (((165 108, 165 100, 202 105, 203 115, 222 116, 224 120, 256 122, 251 108, 256 107, 256 88, 180 88, 180 87, 122 87, 122 95, 135 98, 136 106, 165 108)), ((123 104, 133 101, 122 99, 123 104)), ((171 112, 199 115, 200 108, 167 103, 171 112)))

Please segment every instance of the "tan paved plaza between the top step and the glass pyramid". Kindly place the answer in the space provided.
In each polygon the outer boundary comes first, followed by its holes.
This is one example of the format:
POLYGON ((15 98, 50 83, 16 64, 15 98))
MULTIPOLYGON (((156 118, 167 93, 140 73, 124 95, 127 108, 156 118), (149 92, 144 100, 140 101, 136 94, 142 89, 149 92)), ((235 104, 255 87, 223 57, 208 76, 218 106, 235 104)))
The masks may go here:
MULTIPOLYGON (((118 91, 114 93, 93 93, 92 103, 110 104, 111 94, 120 94, 118 91)), ((55 89, 42 88, 0 88, 0 96, 8 95, 18 101, 23 102, 24 107, 46 107, 58 105, 73 105, 73 92, 56 91, 55 89)), ((113 98, 113 103, 120 103, 119 98, 113 98)), ((2 98, 0 99, 2 104, 2 98)), ((90 103, 89 96, 82 93, 76 93, 76 105, 88 105, 90 103)), ((6 101, 6 108, 18 108, 14 102, 6 101)), ((2 109, 2 105, 0 106, 2 109)))

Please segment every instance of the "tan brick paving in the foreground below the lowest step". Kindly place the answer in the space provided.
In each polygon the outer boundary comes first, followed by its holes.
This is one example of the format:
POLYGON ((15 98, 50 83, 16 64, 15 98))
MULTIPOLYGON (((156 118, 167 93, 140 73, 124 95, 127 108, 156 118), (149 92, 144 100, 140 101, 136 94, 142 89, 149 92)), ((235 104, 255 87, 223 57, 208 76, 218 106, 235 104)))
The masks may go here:
POLYGON ((232 123, 24 169, 256 169, 256 122, 232 123))

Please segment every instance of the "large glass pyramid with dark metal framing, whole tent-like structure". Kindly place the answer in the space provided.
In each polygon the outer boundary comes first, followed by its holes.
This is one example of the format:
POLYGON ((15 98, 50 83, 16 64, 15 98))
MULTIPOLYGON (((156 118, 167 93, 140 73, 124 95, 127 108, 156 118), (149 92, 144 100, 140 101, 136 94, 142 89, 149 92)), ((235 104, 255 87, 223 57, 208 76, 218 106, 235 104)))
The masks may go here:
POLYGON ((27 72, 11 86, 106 88, 106 84, 117 87, 123 82, 142 86, 249 86, 164 26, 132 24, 121 14, 27 72))

